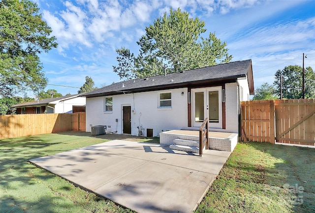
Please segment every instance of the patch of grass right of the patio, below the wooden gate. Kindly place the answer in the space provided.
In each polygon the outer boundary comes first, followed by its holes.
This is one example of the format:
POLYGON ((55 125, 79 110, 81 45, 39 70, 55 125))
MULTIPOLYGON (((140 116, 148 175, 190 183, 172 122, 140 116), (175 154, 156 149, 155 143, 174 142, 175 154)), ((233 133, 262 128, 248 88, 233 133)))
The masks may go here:
POLYGON ((315 149, 239 143, 196 213, 314 213, 315 149))

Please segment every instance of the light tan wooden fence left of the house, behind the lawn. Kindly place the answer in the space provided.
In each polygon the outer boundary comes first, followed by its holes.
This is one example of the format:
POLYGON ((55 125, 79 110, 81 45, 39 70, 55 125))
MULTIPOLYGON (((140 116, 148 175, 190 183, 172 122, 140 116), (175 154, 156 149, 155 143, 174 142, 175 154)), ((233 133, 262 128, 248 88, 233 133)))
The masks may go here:
POLYGON ((69 130, 85 131, 85 112, 0 115, 0 139, 69 130))

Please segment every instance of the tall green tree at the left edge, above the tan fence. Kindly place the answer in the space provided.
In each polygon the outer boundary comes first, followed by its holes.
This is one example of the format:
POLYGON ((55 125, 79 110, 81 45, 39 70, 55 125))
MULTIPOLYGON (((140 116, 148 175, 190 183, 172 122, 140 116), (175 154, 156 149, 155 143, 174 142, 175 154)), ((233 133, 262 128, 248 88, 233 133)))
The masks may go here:
POLYGON ((38 55, 57 47, 51 32, 36 3, 0 1, 0 96, 44 89, 47 79, 38 55))

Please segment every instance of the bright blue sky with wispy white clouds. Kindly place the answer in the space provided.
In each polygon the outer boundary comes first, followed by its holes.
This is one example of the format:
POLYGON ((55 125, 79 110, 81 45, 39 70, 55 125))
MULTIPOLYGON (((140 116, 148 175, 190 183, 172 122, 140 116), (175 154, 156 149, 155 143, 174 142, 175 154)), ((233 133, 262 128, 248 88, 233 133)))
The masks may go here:
POLYGON ((90 76, 100 88, 121 81, 115 49, 137 54, 145 27, 169 12, 188 11, 226 41, 232 61, 252 59, 254 86, 272 84, 287 65, 315 70, 315 0, 35 0, 59 46, 40 55, 47 89, 75 94, 90 76), (54 85, 62 85, 60 87, 54 85))

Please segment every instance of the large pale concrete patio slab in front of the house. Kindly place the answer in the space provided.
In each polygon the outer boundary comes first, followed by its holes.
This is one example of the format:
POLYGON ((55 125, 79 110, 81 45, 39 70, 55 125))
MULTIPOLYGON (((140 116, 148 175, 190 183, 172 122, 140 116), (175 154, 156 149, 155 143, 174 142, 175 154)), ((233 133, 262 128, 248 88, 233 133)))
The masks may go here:
POLYGON ((114 140, 30 161, 139 213, 190 213, 229 155, 114 140))

